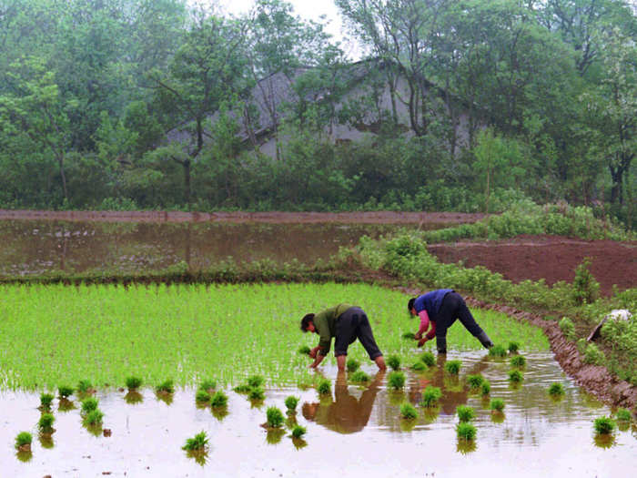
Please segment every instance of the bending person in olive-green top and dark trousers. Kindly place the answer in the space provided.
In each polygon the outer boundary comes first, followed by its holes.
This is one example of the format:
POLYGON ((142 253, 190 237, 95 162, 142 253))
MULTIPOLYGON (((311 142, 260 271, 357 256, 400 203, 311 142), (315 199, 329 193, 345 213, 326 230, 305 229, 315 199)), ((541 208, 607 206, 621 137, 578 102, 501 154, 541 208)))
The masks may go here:
POLYGON ((314 359, 310 365, 313 369, 317 368, 328 354, 332 337, 336 337, 334 355, 339 365, 339 371, 345 370, 349 344, 356 339, 359 339, 360 343, 363 344, 369 354, 369 359, 376 362, 379 370, 386 369, 385 359, 374 341, 374 334, 371 332, 367 315, 359 307, 339 304, 316 314, 307 314, 301 319, 301 331, 318 333, 320 336, 319 345, 309 351, 309 356, 314 359))

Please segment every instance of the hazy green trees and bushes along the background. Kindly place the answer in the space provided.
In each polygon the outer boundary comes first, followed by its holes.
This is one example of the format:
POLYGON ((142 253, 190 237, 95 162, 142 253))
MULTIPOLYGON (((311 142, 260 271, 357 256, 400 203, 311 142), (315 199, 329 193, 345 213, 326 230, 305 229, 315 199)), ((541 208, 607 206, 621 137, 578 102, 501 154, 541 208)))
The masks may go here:
POLYGON ((532 198, 633 227, 634 5, 335 3, 367 65, 383 65, 356 101, 354 62, 283 0, 239 17, 185 0, 0 0, 0 207, 471 211, 532 198), (273 75, 286 101, 260 81, 273 75), (330 137, 363 117, 373 134, 330 137))

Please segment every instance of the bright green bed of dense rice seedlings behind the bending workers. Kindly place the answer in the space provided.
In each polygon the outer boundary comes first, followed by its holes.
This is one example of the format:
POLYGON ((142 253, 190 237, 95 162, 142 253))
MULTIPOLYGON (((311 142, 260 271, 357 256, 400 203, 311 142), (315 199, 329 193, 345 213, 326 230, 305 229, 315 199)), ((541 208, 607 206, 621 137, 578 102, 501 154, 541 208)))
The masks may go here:
MULTIPOLYGON (((380 349, 415 360, 418 328, 405 312, 404 294, 365 284, 173 286, 0 286, 0 388, 56 390, 90 380, 123 387, 137 376, 144 386, 167 380, 196 386, 214 378, 238 384, 261 374, 268 384, 311 382, 310 360, 298 353, 319 336, 299 330, 307 312, 339 302, 361 306, 380 349)), ((524 350, 548 350, 541 331, 498 312, 474 310, 495 342, 518 341, 524 350)), ((479 349, 460 323, 450 349, 479 349)), ((426 348, 434 344, 428 343, 426 348)), ((335 365, 330 351, 327 365, 335 365)), ((359 342, 349 358, 371 366, 359 342)))

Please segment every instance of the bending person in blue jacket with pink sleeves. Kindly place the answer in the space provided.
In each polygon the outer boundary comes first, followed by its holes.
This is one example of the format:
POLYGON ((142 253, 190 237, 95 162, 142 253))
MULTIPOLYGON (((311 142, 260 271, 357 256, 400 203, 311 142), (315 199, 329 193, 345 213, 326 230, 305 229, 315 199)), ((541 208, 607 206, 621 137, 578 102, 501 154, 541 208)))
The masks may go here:
POLYGON ((420 317, 420 329, 415 337, 419 347, 435 336, 438 352, 447 353, 447 330, 456 319, 459 319, 465 329, 485 348, 490 349, 493 346, 487 333, 480 329, 478 322, 473 319, 464 299, 455 290, 431 290, 419 297, 411 298, 407 303, 407 309, 411 315, 420 317), (430 331, 423 337, 422 334, 430 326, 430 331))

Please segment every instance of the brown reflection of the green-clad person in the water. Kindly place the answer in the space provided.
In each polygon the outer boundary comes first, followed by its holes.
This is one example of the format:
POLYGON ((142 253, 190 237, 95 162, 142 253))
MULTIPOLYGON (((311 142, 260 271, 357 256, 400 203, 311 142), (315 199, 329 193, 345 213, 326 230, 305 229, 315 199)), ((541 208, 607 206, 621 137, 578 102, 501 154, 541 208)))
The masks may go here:
POLYGON ((369 422, 372 406, 379 392, 384 371, 379 371, 359 399, 349 393, 345 373, 339 371, 334 384, 334 401, 303 403, 301 410, 306 420, 317 422, 339 433, 360 432, 369 422))

